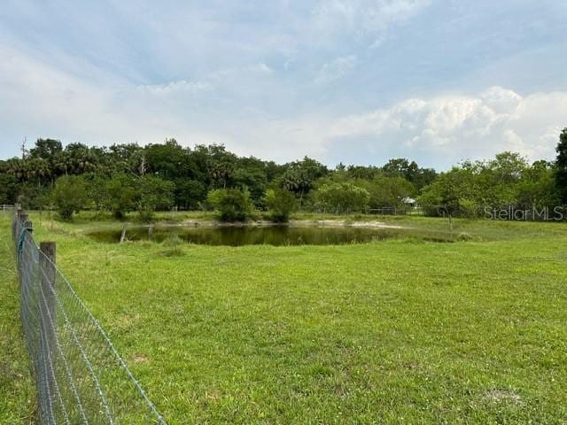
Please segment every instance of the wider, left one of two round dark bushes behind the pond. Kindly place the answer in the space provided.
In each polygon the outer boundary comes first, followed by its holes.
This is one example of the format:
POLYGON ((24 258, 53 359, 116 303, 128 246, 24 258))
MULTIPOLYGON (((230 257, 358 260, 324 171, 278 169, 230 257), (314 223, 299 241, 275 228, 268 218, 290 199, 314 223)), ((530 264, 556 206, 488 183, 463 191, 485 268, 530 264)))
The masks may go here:
POLYGON ((253 205, 246 189, 212 190, 207 202, 219 213, 221 221, 245 221, 252 216, 253 205))

